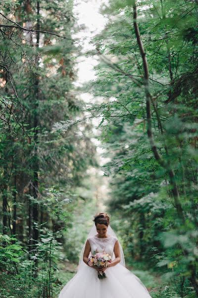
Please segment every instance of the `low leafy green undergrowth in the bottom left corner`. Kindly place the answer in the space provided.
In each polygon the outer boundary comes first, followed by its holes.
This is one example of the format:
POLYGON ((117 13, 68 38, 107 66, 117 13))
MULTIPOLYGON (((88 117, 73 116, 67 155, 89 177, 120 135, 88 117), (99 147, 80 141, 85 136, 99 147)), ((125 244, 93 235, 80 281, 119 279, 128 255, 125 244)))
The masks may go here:
POLYGON ((60 243, 55 239, 58 235, 53 235, 46 229, 43 233, 41 241, 37 243, 36 252, 31 253, 24 252, 20 245, 9 244, 10 241, 17 240, 16 238, 1 236, 2 241, 8 243, 4 250, 0 249, 0 268, 4 268, 0 273, 1 297, 20 298, 24 293, 30 297, 52 297, 53 290, 58 287, 55 276, 57 264, 63 255, 60 252, 60 243), (28 254, 29 260, 26 259, 28 254), (35 267, 35 260, 39 264, 38 268, 35 267))

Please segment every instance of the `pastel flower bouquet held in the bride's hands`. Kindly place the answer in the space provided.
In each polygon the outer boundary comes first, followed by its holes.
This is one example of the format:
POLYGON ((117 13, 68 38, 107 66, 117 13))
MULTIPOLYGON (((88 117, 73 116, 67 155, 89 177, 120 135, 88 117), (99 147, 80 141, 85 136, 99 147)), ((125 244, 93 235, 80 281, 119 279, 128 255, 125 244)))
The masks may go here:
MULTIPOLYGON (((96 268, 105 268, 108 266, 108 263, 111 263, 111 256, 105 252, 97 252, 94 251, 93 254, 89 257, 90 266, 94 266, 96 268)), ((104 272, 99 272, 99 279, 103 279, 106 277, 104 272)))

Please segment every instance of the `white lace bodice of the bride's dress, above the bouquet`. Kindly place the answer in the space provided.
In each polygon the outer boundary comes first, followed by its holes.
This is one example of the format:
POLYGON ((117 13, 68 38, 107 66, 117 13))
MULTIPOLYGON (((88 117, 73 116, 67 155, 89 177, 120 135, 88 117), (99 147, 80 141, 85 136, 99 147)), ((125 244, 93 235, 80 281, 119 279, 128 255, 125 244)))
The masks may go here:
POLYGON ((115 242, 118 240, 115 236, 109 236, 107 238, 98 238, 97 236, 92 236, 88 238, 91 246, 91 252, 103 252, 105 251, 109 255, 113 255, 115 242))

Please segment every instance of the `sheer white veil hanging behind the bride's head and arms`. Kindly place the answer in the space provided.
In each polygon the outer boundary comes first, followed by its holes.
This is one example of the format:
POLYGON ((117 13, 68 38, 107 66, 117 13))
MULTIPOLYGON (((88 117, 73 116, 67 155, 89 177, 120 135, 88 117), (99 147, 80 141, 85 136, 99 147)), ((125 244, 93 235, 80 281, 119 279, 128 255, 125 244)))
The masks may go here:
MULTIPOLYGON (((89 237, 92 237, 92 236, 96 235, 96 234, 97 234, 97 229, 96 229, 96 225, 94 224, 93 227, 91 228, 91 230, 90 230, 88 236, 87 236, 87 239, 88 239, 89 237)), ((107 234, 110 235, 110 236, 115 236, 115 237, 117 237, 116 234, 115 234, 115 232, 113 231, 113 229, 110 227, 110 224, 108 225, 108 228, 107 228, 107 234)), ((85 244, 86 244, 86 242, 87 242, 87 239, 86 239, 86 241, 85 241, 85 243, 84 243, 84 245, 83 245, 83 248, 82 248, 82 250, 81 250, 81 253, 80 253, 80 260, 79 260, 79 265, 78 265, 78 272, 79 272, 81 269, 83 269, 84 267, 87 266, 87 265, 85 264, 85 262, 83 261, 83 254, 84 254, 85 244)), ((120 241, 119 241, 119 240, 118 240, 118 242, 119 242, 119 246, 120 246, 120 255, 121 255, 121 261, 120 261, 119 264, 121 264, 122 266, 125 267, 125 259, 124 259, 124 253, 123 253, 122 245, 120 244, 120 241)), ((91 252, 90 252, 90 253, 91 253, 91 252)), ((112 260, 114 260, 114 259, 115 259, 115 254, 114 254, 114 252, 113 252, 112 260)))

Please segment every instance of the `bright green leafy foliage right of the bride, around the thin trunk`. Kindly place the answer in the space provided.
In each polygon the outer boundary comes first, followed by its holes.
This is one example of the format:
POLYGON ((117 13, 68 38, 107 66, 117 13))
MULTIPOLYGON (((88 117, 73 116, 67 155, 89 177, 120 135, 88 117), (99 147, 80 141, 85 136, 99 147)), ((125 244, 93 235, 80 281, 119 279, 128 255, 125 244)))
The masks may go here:
POLYGON ((108 210, 117 218, 114 227, 128 262, 132 265, 135 259, 155 266, 164 274, 165 284, 171 278, 170 285, 152 297, 195 296, 198 3, 136 1, 149 69, 154 144, 147 132, 145 65, 133 27, 133 3, 110 0, 102 6, 108 21, 93 39, 101 59, 89 91, 95 98, 102 95, 103 101, 88 111, 102 119, 100 141, 109 159, 103 169, 111 188, 108 210), (185 279, 183 285, 180 278, 185 279))

